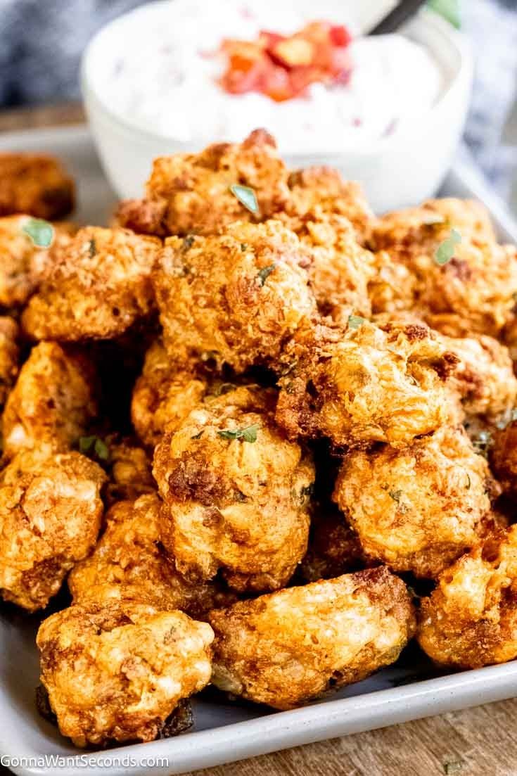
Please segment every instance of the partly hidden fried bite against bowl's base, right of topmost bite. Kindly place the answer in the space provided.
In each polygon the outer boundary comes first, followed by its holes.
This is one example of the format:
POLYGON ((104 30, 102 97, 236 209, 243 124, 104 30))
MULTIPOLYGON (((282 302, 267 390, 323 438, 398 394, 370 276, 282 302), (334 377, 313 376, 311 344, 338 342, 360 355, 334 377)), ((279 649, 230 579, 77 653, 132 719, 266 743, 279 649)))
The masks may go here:
POLYGON ((360 244, 370 237, 375 217, 359 183, 343 180, 331 167, 308 167, 291 172, 288 185, 290 197, 285 210, 290 216, 303 220, 317 207, 348 219, 360 244))

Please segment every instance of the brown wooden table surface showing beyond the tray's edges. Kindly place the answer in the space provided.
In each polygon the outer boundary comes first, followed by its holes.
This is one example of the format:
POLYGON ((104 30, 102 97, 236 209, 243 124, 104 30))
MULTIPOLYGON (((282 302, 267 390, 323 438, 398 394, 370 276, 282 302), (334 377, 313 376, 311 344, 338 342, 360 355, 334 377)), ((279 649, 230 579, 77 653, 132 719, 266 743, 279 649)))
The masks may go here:
MULTIPOLYGON (((78 105, 0 112, 0 132, 84 120, 78 105)), ((517 698, 196 771, 197 776, 516 776, 517 698)))

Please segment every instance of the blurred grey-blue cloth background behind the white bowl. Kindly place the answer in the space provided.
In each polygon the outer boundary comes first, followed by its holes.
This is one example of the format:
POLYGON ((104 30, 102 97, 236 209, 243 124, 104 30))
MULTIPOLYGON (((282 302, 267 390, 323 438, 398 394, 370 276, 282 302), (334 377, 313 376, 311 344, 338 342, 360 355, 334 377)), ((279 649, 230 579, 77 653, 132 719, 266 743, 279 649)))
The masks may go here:
MULTIPOLYGON (((379 15, 394 5, 390 0, 363 2, 378 6, 379 15)), ((476 54, 460 153, 471 155, 517 212, 517 0, 430 2, 459 16, 476 54)), ((142 2, 0 0, 0 110, 80 99, 78 66, 85 44, 109 19, 137 5, 142 2)))

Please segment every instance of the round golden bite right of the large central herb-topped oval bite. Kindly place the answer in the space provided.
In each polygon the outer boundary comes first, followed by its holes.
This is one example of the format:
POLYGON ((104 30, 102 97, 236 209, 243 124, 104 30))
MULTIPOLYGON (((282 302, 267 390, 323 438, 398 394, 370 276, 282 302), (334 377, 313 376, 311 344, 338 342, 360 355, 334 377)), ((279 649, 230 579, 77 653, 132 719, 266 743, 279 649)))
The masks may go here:
POLYGON ((490 527, 488 463, 463 427, 346 456, 334 500, 366 555, 435 577, 490 527))

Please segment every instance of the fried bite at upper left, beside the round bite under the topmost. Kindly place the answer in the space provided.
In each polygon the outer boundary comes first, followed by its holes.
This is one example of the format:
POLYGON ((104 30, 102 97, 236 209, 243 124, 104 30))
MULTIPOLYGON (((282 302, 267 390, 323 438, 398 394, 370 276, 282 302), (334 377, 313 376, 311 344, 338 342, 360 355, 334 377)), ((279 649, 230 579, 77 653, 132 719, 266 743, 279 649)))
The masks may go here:
POLYGON ((151 271, 160 245, 126 229, 79 230, 29 300, 26 333, 60 341, 123 334, 154 309, 151 271))

